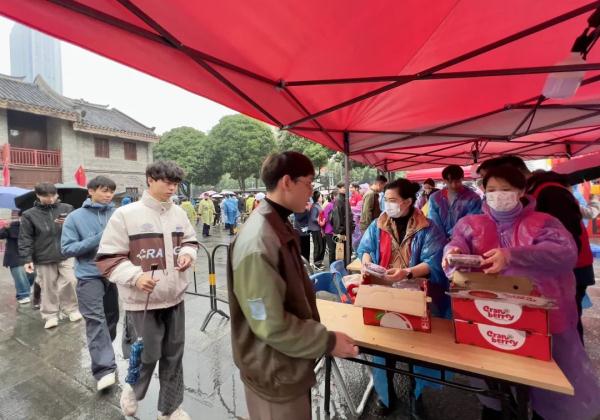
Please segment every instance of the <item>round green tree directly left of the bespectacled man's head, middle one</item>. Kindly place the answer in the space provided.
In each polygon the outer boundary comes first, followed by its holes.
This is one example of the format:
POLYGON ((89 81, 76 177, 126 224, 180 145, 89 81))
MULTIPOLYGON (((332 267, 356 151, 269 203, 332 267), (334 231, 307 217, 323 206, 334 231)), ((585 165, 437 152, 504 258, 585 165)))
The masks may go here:
POLYGON ((271 129, 260 121, 244 115, 221 118, 208 134, 211 157, 237 180, 242 191, 246 179, 256 177, 264 159, 275 150, 271 129))

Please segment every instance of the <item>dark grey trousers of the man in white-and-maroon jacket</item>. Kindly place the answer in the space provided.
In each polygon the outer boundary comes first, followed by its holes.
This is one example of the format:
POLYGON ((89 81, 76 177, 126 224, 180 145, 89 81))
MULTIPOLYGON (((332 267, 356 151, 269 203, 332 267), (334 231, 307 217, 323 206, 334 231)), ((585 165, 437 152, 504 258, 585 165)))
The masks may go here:
MULTIPOLYGON (((127 311, 128 325, 135 329, 128 334, 138 336, 142 331, 144 311, 127 311)), ((183 402, 183 347, 185 344, 185 307, 178 305, 148 311, 144 329, 144 350, 140 379, 135 385, 136 399, 146 396, 152 373, 158 362, 158 411, 170 415, 183 402)))

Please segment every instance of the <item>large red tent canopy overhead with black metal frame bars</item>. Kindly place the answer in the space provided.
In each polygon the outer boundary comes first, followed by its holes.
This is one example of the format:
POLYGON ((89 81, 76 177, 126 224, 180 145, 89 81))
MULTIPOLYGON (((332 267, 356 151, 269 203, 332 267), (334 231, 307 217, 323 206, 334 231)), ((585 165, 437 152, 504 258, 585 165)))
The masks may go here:
POLYGON ((538 101, 589 0, 21 0, 0 14, 384 170, 600 150, 600 48, 538 101))

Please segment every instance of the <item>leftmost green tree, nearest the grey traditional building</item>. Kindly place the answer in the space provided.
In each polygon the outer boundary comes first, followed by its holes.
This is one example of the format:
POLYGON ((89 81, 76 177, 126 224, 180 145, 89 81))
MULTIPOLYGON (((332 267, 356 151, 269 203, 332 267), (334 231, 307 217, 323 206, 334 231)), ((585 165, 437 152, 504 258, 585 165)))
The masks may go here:
POLYGON ((177 162, 193 184, 212 185, 223 175, 222 165, 213 159, 206 134, 192 127, 177 127, 164 133, 154 146, 154 159, 177 162))

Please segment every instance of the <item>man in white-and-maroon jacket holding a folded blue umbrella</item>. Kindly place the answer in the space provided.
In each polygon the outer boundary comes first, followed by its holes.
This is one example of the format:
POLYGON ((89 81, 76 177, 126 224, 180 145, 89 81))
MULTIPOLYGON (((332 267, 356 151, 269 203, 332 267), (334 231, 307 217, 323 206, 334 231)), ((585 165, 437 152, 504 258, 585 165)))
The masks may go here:
POLYGON ((144 339, 140 377, 133 387, 125 385, 121 394, 125 416, 135 415, 158 362, 159 419, 190 418, 181 409, 183 296, 189 282, 186 270, 196 259, 198 242, 185 211, 171 202, 183 177, 183 170, 174 162, 150 164, 146 168, 148 190, 140 201, 115 211, 96 257, 102 275, 117 283, 125 316, 135 329, 130 333, 144 339))

